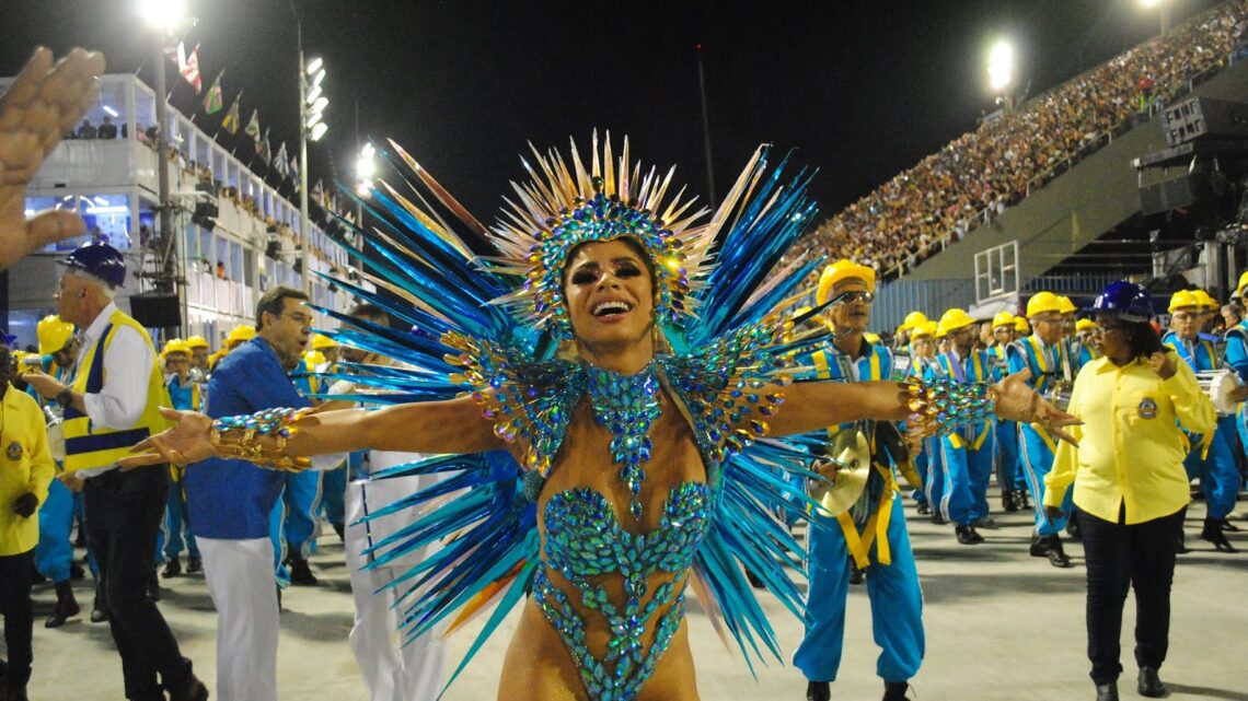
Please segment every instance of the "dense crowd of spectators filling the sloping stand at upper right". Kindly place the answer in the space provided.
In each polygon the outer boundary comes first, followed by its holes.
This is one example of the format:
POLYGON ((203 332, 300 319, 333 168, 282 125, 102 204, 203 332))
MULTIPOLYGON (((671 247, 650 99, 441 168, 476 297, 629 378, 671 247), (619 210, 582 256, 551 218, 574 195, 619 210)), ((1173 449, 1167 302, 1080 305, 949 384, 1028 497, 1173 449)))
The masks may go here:
POLYGON ((794 253, 850 258, 897 277, 1184 96, 1246 40, 1248 0, 1193 17, 985 120, 820 225, 794 253))

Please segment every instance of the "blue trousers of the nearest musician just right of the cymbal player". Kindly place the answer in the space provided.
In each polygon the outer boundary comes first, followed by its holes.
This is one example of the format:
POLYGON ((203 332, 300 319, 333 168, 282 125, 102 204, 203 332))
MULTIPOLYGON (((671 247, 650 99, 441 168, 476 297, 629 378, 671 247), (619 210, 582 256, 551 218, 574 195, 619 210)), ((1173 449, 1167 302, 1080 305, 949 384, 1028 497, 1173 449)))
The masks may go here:
POLYGON ((940 438, 945 481, 940 510, 957 525, 971 525, 988 515, 988 480, 997 460, 995 423, 978 425, 968 433, 940 438))

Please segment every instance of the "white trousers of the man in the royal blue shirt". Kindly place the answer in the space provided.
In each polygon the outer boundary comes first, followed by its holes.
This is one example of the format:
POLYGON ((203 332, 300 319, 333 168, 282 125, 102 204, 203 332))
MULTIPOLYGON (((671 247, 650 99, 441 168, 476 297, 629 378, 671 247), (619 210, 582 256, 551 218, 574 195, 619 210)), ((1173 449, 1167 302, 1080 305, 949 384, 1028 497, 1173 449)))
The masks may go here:
POLYGON ((277 587, 268 538, 195 536, 217 607, 217 701, 277 701, 277 587))

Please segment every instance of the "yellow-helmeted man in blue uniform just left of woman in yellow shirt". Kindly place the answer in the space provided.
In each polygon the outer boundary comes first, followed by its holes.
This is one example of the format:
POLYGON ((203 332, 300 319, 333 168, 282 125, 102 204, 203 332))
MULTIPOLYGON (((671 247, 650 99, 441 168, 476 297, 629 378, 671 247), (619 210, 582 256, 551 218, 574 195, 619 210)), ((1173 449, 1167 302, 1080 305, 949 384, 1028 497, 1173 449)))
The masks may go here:
MULTIPOLYGON (((1027 319, 1032 333, 1020 338, 1010 347, 1010 373, 1031 370, 1027 384, 1036 392, 1046 394, 1058 383, 1073 383, 1077 368, 1065 353, 1063 334, 1066 321, 1062 318, 1061 299, 1052 292, 1037 292, 1027 301, 1027 319)), ((1070 384, 1067 384, 1070 387, 1070 384)), ((1031 539, 1031 555, 1048 558, 1055 568, 1071 566, 1071 559, 1062 549, 1058 535, 1071 513, 1071 498, 1066 495, 1060 518, 1045 515, 1045 475, 1053 467, 1055 439, 1038 424, 1020 424, 1018 454, 1027 478, 1036 511, 1036 529, 1031 539)))

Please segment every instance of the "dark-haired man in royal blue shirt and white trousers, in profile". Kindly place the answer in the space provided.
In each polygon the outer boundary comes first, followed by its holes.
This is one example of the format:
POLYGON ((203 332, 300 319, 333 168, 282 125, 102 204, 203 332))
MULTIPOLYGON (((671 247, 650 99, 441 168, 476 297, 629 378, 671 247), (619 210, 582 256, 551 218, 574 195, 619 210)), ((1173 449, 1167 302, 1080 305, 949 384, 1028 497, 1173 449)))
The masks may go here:
MULTIPOLYGON (((311 336, 312 312, 306 303, 307 294, 290 287, 275 287, 256 302, 256 337, 231 350, 208 380, 210 417, 311 405, 288 375, 300 367, 311 336)), ((314 464, 319 467, 319 459, 314 464)), ((278 600, 270 515, 285 478, 285 473, 221 458, 186 469, 195 540, 217 609, 221 701, 277 700, 278 600)))

